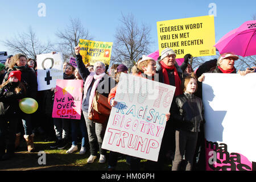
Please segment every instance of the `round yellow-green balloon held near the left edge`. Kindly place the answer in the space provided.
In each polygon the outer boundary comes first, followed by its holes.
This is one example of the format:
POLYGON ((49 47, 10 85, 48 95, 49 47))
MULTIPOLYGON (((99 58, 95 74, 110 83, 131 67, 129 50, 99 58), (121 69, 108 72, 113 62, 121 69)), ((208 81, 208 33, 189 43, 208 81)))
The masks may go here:
POLYGON ((38 110, 38 102, 34 98, 23 98, 19 101, 19 108, 26 114, 32 114, 38 110))

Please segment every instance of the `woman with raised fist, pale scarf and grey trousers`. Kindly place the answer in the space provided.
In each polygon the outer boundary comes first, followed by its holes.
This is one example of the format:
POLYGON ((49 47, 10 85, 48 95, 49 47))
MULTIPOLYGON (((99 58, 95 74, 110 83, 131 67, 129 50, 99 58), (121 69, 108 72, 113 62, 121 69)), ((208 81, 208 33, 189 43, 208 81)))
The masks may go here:
POLYGON ((88 118, 90 111, 92 110, 93 97, 98 93, 108 97, 110 89, 114 87, 114 80, 105 73, 105 64, 98 61, 94 63, 94 71, 89 72, 82 62, 82 56, 80 55, 80 47, 75 47, 77 69, 85 81, 84 84, 84 97, 82 98, 82 113, 84 114, 86 127, 89 137, 90 156, 87 163, 93 163, 97 158, 97 148, 100 150, 99 163, 106 162, 106 151, 101 148, 104 133, 106 129, 106 123, 96 123, 88 118))

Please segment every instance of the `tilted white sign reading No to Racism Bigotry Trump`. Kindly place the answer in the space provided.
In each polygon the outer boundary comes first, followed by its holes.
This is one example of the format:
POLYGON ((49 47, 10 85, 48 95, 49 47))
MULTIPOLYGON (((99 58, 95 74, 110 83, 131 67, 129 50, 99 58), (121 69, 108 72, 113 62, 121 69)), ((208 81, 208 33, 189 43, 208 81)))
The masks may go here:
POLYGON ((175 86, 122 73, 102 148, 158 160, 175 86))

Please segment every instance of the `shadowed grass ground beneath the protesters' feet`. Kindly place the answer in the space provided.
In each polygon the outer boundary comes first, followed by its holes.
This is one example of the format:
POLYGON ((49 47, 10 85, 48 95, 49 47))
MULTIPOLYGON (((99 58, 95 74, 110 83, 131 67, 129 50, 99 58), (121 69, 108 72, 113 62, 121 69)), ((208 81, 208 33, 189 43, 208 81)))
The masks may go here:
MULTIPOLYGON (((104 164, 98 163, 99 156, 93 164, 87 164, 90 152, 86 151, 84 155, 79 155, 79 151, 73 154, 67 154, 66 151, 71 147, 71 143, 63 150, 52 150, 49 146, 53 142, 42 142, 42 139, 35 137, 35 152, 27 152, 26 142, 22 140, 20 147, 15 152, 13 158, 0 161, 0 170, 4 171, 27 171, 27 170, 43 170, 43 171, 106 171, 108 170, 108 154, 107 161, 104 164), (40 151, 43 151, 43 153, 40 151), (46 164, 42 164, 42 157, 45 154, 46 164), (41 163, 41 164, 40 164, 41 163)), ((80 145, 79 145, 80 150, 80 145)), ((141 170, 143 171, 147 165, 146 160, 141 160, 141 170)), ((129 171, 130 166, 126 163, 126 156, 122 155, 115 168, 117 171, 129 171)), ((164 166, 165 170, 170 170, 170 164, 164 166)))

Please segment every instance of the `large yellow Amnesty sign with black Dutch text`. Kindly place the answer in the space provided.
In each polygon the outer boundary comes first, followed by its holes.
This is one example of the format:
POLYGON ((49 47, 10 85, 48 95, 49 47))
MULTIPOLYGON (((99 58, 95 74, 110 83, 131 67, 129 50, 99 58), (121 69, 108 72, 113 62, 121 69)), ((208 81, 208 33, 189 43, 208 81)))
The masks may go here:
POLYGON ((158 28, 159 55, 166 48, 183 58, 216 55, 214 16, 199 16, 156 22, 158 28))

